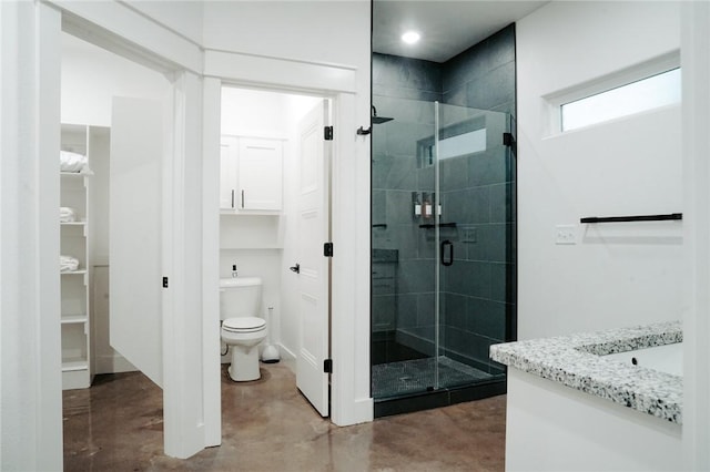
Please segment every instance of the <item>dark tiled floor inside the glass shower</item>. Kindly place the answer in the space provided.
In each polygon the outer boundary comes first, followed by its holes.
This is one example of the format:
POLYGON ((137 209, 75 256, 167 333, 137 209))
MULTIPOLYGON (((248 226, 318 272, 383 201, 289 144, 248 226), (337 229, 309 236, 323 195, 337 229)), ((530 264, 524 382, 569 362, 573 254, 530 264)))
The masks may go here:
POLYGON ((439 356, 438 359, 426 358, 381 363, 373 366, 372 369, 373 398, 384 399, 432 390, 436 380, 437 360, 438 380, 442 388, 471 384, 496 377, 445 356, 439 356))

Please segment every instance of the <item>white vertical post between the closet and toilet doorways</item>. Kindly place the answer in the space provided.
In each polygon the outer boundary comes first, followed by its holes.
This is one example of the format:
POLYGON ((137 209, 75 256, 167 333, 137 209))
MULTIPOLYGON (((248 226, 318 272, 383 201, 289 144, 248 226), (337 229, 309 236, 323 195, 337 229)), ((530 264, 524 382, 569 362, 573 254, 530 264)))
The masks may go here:
MULTIPOLYGON (((185 459, 205 445, 202 346, 202 82, 174 81, 172 150, 163 162, 163 419, 165 454, 185 459)), ((170 133, 169 133, 170 134, 170 133)), ((215 328, 216 329, 216 328, 215 328)))

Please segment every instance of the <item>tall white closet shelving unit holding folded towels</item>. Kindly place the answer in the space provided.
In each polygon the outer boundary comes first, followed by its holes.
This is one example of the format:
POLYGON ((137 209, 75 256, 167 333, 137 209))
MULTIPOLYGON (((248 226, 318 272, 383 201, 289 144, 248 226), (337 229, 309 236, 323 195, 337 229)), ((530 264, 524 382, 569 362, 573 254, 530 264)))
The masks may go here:
MULTIPOLYGON (((89 157, 91 129, 62 124, 61 148, 89 157)), ((89 186, 87 172, 60 172, 60 206, 72 208, 74 219, 60 222, 60 253, 79 260, 74 270, 60 270, 63 389, 88 388, 91 372, 91 316, 89 311, 89 186)))

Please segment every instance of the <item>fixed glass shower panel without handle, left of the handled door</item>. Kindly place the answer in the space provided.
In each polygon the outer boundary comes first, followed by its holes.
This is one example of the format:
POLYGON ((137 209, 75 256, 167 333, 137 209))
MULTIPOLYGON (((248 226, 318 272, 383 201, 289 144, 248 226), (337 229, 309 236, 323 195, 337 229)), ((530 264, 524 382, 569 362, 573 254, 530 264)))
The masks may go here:
POLYGON ((377 104, 372 174, 372 391, 387 399, 435 382, 435 183, 433 102, 377 104), (428 143, 424 145, 423 143, 428 143))

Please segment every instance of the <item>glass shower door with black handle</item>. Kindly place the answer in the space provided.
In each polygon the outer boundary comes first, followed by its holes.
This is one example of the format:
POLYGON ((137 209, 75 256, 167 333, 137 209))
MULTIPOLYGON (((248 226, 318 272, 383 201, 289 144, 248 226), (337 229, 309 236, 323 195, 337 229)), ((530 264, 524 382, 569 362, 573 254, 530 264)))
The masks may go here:
POLYGON ((436 389, 494 381, 515 300, 515 162, 505 113, 436 104, 436 389))

